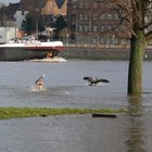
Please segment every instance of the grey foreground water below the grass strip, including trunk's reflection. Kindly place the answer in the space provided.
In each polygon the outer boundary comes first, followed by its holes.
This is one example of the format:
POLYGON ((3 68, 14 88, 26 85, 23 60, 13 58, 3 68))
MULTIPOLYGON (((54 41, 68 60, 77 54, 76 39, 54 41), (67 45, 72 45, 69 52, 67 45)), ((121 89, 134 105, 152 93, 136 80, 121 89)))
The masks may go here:
POLYGON ((152 115, 91 115, 0 122, 1 152, 150 152, 152 115), (149 121, 148 121, 149 119, 149 121))

